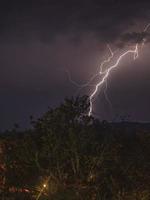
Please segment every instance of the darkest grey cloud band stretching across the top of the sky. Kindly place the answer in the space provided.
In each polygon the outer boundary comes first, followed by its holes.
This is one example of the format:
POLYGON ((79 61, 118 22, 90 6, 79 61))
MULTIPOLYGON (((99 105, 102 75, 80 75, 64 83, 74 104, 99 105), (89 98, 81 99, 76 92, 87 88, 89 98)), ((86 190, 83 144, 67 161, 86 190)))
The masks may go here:
POLYGON ((112 42, 139 20, 149 17, 149 1, 42 0, 6 2, 1 6, 1 34, 16 42, 49 42, 57 34, 93 32, 112 42))

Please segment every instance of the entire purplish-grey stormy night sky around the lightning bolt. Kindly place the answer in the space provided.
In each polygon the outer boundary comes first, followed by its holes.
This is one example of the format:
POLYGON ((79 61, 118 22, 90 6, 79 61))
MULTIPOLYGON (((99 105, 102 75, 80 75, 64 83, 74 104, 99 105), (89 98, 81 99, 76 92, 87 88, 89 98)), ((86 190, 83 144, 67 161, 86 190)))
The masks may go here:
MULTIPOLYGON (((28 126, 29 116, 76 94, 72 79, 85 83, 100 62, 113 51, 124 52, 141 42, 150 23, 148 0, 36 0, 0 3, 0 129, 14 123, 28 126)), ((150 30, 149 30, 150 32, 150 30)), ((94 113, 101 120, 130 115, 132 121, 150 121, 150 44, 122 60, 108 80, 107 95, 100 92, 94 113)), ((80 94, 89 95, 92 88, 80 94)))

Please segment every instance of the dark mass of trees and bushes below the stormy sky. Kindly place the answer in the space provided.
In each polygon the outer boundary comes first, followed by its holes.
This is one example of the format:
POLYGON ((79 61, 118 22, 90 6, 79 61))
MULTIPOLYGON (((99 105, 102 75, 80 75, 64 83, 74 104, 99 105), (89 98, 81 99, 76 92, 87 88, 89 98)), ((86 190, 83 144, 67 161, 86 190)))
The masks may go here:
POLYGON ((2 200, 149 200, 150 129, 88 117, 65 99, 32 128, 1 134, 2 200))

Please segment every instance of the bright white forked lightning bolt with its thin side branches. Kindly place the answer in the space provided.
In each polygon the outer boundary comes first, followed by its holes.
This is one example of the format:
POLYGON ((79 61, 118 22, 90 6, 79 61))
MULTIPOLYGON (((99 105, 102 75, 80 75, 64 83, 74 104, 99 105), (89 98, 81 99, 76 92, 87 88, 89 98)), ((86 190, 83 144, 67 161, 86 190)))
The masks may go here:
MULTIPOLYGON (((148 31, 148 29, 150 28, 150 23, 144 28, 143 32, 142 33, 146 33, 148 31)), ((79 87, 80 89, 84 88, 84 87, 87 87, 87 86, 93 86, 94 87, 94 90, 93 92, 89 95, 89 103, 90 103, 90 108, 89 108, 89 112, 88 112, 88 116, 91 116, 92 115, 92 112, 93 112, 93 101, 94 101, 94 98, 96 96, 96 94, 98 93, 99 91, 99 88, 102 87, 104 84, 106 86, 105 88, 105 91, 104 91, 104 94, 105 94, 105 97, 107 99, 107 101, 110 103, 109 99, 107 98, 107 95, 106 95, 106 89, 107 89, 107 80, 110 76, 110 73, 119 66, 120 62, 122 61, 122 59, 124 57, 126 57, 127 55, 133 55, 133 60, 136 60, 138 57, 139 57, 139 48, 140 47, 143 47, 145 45, 145 42, 146 42, 146 34, 144 34, 144 37, 141 41, 141 43, 136 43, 135 46, 133 46, 131 49, 125 51, 124 53, 122 53, 119 58, 117 58, 115 64, 113 65, 110 65, 110 62, 111 60, 114 58, 114 53, 110 46, 107 45, 108 49, 109 49, 109 52, 110 52, 110 56, 105 59, 99 66, 98 68, 98 72, 93 75, 90 80, 85 83, 85 84, 82 84, 80 85, 79 83, 75 82, 74 80, 72 80, 71 76, 70 76, 70 73, 69 71, 67 71, 67 74, 68 74, 68 77, 69 77, 69 80, 71 83, 73 83, 75 86, 79 87), (107 66, 107 67, 105 67, 107 66), (105 69, 105 68, 106 69, 105 69), (98 83, 96 84, 91 84, 91 82, 96 78, 96 77, 99 77, 100 80, 98 81, 98 83)), ((111 104, 111 103, 110 103, 111 104)))

